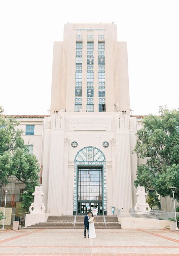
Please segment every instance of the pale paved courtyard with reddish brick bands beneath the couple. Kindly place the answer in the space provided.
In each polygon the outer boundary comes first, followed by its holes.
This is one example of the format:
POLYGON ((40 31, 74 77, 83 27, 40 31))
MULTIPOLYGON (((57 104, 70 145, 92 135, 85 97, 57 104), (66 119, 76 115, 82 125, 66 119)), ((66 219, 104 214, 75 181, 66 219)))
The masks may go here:
POLYGON ((179 231, 144 229, 0 231, 0 255, 178 255, 179 231))

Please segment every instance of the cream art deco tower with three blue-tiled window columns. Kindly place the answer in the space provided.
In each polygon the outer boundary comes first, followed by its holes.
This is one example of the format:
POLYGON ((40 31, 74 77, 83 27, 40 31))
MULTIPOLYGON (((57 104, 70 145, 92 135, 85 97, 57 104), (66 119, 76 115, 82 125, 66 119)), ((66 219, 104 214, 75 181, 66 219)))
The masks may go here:
POLYGON ((116 25, 65 25, 54 42, 51 114, 61 109, 130 114, 127 44, 116 25))

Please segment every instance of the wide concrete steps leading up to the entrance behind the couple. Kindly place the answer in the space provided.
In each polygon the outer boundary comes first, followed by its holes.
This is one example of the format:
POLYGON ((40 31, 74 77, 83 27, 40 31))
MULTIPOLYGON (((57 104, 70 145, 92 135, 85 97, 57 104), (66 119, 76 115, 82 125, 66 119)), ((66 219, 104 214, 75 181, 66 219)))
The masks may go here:
MULTIPOLYGON (((121 229, 116 216, 105 216, 106 225, 103 216, 95 216, 95 229, 121 229)), ((40 222, 27 228, 45 228, 45 229, 84 229, 84 216, 77 215, 74 223, 74 216, 49 216, 46 222, 40 222)))

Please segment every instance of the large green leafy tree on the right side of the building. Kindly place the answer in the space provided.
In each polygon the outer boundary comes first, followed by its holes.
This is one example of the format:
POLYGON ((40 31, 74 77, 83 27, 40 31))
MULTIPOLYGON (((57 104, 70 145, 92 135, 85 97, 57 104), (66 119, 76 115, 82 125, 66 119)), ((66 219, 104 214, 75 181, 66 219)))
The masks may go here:
POLYGON ((137 131, 134 151, 139 158, 147 158, 147 165, 137 166, 134 184, 170 197, 170 187, 177 187, 175 197, 179 200, 179 110, 160 107, 159 114, 144 117, 137 131))

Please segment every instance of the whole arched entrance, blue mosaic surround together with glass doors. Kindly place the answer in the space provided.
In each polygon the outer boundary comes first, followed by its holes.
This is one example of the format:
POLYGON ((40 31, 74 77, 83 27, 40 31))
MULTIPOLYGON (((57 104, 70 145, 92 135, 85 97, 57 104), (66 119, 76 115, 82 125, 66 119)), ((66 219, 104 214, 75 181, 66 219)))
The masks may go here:
POLYGON ((85 147, 74 159, 73 212, 79 215, 97 209, 106 212, 106 159, 96 147, 85 147))

